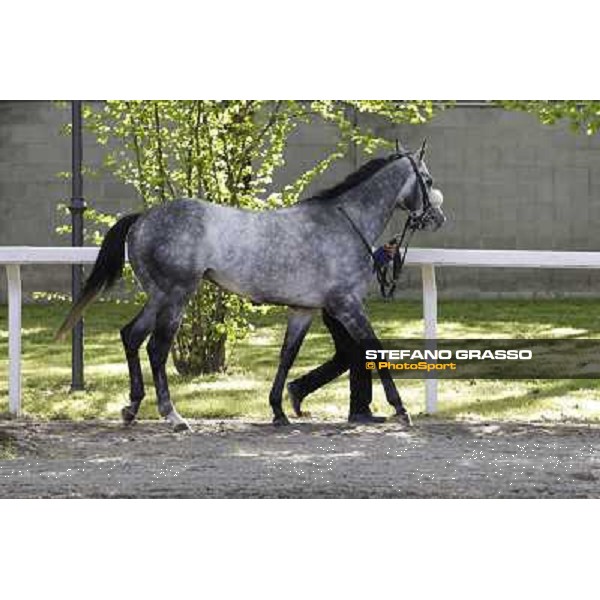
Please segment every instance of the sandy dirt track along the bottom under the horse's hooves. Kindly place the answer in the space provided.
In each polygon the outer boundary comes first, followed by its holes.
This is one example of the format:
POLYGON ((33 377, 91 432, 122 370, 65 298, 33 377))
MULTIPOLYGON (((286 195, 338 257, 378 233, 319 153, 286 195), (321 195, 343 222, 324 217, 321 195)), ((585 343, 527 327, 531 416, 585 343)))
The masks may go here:
POLYGON ((590 498, 600 427, 0 421, 0 498, 590 498))

